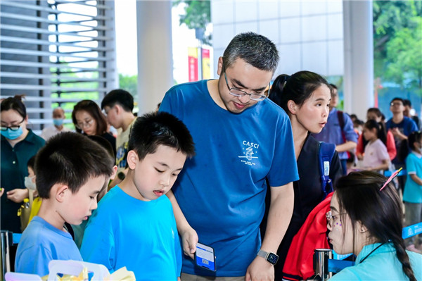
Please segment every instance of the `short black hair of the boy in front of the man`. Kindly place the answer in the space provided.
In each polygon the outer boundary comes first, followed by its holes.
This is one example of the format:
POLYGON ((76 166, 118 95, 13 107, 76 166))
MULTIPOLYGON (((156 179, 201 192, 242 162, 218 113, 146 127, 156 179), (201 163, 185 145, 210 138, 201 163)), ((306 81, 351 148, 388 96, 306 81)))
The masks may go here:
POLYGON ((167 112, 146 113, 136 118, 129 137, 129 150, 143 160, 147 154, 153 154, 158 146, 170 146, 186 154, 195 155, 195 146, 186 125, 167 112))

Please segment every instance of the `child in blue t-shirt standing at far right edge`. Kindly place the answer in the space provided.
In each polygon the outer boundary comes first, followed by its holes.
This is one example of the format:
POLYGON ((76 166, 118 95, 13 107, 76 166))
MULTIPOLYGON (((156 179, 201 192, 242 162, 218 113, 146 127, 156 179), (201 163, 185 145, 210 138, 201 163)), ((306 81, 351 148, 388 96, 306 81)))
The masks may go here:
MULTIPOLYGON (((407 156, 407 180, 404 185, 403 201, 406 207, 406 225, 414 225, 422 221, 422 133, 411 132, 407 139, 407 145, 402 144, 401 154, 407 156), (404 151, 405 148, 407 151, 404 151), (409 151, 410 149, 410 151, 409 151), (410 152, 410 153, 409 153, 410 152)), ((404 155, 402 155, 404 156, 404 155)), ((405 157, 405 156, 404 156, 405 157)), ((403 158, 404 158, 403 157, 403 158)), ((407 244, 408 249, 414 250, 418 245, 416 237, 410 237, 407 244)))

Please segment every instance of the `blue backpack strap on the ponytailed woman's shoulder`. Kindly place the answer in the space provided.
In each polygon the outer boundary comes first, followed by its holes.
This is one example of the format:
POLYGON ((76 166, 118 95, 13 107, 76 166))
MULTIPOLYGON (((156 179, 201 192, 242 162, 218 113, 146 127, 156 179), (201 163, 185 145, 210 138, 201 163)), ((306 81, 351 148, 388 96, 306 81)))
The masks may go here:
POLYGON ((327 194, 333 192, 333 181, 330 178, 330 166, 335 151, 335 144, 319 142, 318 144, 318 162, 319 175, 321 177, 321 191, 324 194, 323 200, 327 194))

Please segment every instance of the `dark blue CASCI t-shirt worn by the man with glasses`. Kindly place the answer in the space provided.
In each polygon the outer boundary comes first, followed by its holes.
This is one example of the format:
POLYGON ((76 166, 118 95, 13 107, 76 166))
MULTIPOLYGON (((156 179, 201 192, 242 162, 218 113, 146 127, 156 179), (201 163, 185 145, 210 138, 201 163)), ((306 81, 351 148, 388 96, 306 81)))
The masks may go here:
MULTIPOLYGON (((181 119, 196 146, 172 189, 181 211, 199 242, 215 249, 216 275, 245 275, 261 245, 266 179, 271 187, 298 180, 288 115, 269 99, 226 111, 206 80, 172 87, 160 111, 181 119)), ((212 275, 187 256, 182 271, 212 275)))

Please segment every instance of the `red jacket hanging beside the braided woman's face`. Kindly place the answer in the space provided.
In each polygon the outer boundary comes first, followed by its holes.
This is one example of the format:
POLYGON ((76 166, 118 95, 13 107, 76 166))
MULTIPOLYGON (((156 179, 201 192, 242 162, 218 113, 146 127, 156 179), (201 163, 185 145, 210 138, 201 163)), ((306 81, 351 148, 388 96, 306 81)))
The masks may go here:
POLYGON ((309 213, 288 249, 283 268, 285 280, 307 280, 314 275, 314 250, 330 249, 327 239, 326 213, 330 211, 333 192, 309 213))

